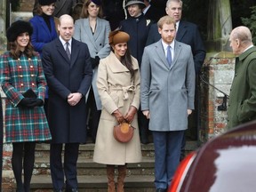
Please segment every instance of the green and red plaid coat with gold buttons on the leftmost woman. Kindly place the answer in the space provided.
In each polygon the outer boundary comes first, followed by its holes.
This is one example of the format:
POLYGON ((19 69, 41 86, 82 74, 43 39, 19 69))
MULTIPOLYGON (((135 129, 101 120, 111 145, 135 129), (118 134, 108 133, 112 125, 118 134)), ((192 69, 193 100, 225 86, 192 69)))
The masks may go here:
POLYGON ((46 80, 39 54, 31 59, 24 54, 13 60, 9 52, 0 57, 1 85, 7 97, 5 106, 6 142, 44 141, 52 136, 44 107, 18 108, 23 92, 32 88, 44 100, 46 80))

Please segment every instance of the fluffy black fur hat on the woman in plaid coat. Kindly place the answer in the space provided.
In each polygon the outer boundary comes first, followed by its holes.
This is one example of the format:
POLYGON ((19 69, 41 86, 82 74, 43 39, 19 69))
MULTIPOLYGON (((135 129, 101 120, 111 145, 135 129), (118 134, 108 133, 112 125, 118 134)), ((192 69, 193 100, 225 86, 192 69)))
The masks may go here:
POLYGON ((9 42, 14 42, 21 33, 28 32, 29 36, 33 33, 33 28, 28 21, 17 20, 7 29, 6 36, 9 42))

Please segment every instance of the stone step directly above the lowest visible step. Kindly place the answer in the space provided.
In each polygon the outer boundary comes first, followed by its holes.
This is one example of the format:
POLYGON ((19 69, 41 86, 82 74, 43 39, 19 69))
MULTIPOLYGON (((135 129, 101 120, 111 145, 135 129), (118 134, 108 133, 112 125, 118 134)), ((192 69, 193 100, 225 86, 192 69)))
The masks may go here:
MULTIPOLYGON (((129 175, 152 175, 154 174, 154 157, 143 156, 142 161, 136 164, 128 164, 129 175)), ((36 157, 34 174, 50 174, 49 157, 36 157)), ((78 175, 104 175, 105 164, 96 164, 92 159, 79 156, 77 161, 78 175)))

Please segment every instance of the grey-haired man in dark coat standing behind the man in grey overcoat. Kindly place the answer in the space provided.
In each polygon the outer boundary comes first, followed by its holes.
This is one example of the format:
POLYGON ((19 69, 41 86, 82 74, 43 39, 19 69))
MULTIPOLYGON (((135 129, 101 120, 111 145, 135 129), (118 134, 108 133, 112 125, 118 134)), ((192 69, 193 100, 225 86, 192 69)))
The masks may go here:
MULTIPOLYGON (((177 35, 176 40, 180 41, 184 44, 189 44, 192 49, 195 69, 196 69, 196 110, 192 116, 189 116, 188 124, 192 127, 197 127, 199 124, 199 116, 200 116, 200 94, 199 94, 199 74, 200 69, 204 63, 205 59, 205 49, 204 42, 200 36, 199 30, 194 23, 181 20, 182 13, 182 1, 180 0, 168 0, 165 8, 166 13, 174 18, 176 21, 177 35)), ((153 44, 161 38, 160 34, 157 31, 157 25, 154 24, 151 26, 148 34, 148 44, 153 44)), ((196 130, 197 132, 197 130, 196 130)), ((185 156, 185 145, 186 145, 186 135, 184 134, 184 140, 182 142, 181 147, 181 156, 180 160, 185 156)))

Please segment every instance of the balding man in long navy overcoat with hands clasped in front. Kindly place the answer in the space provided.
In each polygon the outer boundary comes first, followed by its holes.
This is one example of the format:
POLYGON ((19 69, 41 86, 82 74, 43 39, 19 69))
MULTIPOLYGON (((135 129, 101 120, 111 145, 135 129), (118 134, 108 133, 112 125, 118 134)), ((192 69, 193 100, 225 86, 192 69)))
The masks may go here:
POLYGON ((52 133, 50 166, 54 191, 76 192, 79 143, 86 142, 84 96, 92 84, 91 57, 87 44, 76 41, 74 20, 60 16, 60 37, 43 48, 44 74, 49 86, 49 126, 52 133), (65 144, 64 167, 61 163, 65 144))

